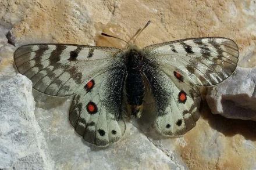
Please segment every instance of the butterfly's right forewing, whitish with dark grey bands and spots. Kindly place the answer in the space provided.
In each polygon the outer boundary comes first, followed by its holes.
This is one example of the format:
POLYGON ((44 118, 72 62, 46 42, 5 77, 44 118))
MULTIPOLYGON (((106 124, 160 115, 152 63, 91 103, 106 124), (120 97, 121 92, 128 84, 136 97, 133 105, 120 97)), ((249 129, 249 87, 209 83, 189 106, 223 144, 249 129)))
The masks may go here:
MULTIPOLYGON (((239 49, 232 39, 190 38, 147 46, 145 57, 160 68, 177 71, 200 86, 222 82, 236 69, 239 49)), ((173 73, 169 75, 173 76, 173 73)))

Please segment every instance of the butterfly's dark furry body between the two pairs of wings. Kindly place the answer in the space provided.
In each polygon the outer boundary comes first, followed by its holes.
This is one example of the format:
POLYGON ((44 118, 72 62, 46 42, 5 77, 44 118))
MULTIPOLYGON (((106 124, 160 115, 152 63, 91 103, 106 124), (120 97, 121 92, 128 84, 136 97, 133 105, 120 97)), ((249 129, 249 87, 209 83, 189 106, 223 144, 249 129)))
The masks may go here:
POLYGON ((126 96, 131 114, 140 117, 142 104, 145 94, 143 80, 143 52, 142 50, 131 47, 124 53, 126 60, 126 96))

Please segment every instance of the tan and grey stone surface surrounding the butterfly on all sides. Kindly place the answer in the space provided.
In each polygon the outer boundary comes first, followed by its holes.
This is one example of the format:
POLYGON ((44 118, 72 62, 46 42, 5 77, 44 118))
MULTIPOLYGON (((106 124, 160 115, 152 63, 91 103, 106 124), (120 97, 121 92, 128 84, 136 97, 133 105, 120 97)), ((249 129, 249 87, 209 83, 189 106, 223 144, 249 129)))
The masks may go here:
POLYGON ((206 103, 195 128, 180 138, 162 138, 151 126, 131 122, 123 139, 105 149, 89 146, 74 132, 70 99, 34 93, 34 110, 31 83, 13 68, 16 48, 7 42, 8 31, 16 46, 54 42, 123 48, 100 33, 129 39, 148 20, 151 25, 137 39, 141 47, 227 37, 239 45, 239 66, 256 66, 255 0, 0 1, 0 169, 256 168, 255 121, 212 115, 206 103))

